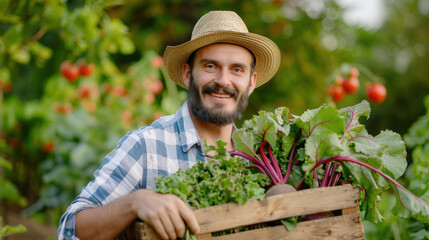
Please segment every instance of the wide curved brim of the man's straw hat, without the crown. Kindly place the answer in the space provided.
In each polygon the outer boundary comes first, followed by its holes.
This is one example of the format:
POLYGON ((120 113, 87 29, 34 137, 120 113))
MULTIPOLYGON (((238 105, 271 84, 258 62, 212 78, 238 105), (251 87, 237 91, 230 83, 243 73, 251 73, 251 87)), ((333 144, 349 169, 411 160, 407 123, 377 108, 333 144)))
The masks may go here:
POLYGON ((195 50, 214 43, 231 43, 251 51, 256 58, 254 71, 258 74, 256 87, 268 82, 280 67, 280 49, 269 38, 255 34, 221 31, 206 34, 178 46, 168 46, 164 52, 164 66, 168 76, 184 88, 183 64, 195 50))

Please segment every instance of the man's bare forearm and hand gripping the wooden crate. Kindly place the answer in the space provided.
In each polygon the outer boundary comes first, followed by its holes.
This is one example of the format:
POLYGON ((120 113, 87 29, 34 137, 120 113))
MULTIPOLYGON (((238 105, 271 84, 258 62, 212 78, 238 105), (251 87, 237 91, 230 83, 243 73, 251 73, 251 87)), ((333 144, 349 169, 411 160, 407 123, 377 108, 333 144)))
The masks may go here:
POLYGON ((76 214, 75 235, 81 240, 114 239, 136 218, 143 220, 162 239, 185 235, 185 223, 194 233, 199 225, 192 210, 177 196, 140 189, 102 207, 76 214))

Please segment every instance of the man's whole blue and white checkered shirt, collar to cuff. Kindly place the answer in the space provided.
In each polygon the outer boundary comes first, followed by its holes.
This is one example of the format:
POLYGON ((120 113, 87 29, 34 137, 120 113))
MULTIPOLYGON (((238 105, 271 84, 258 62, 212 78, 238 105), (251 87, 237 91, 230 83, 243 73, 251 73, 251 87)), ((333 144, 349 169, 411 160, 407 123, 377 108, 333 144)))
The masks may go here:
POLYGON ((201 140, 186 101, 174 115, 165 116, 125 135, 110 152, 92 180, 61 217, 58 239, 75 236, 75 214, 106 205, 137 189, 152 189, 155 178, 204 161, 201 140))

